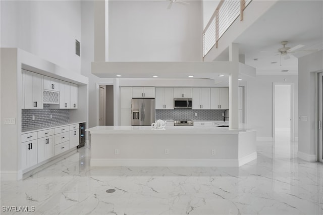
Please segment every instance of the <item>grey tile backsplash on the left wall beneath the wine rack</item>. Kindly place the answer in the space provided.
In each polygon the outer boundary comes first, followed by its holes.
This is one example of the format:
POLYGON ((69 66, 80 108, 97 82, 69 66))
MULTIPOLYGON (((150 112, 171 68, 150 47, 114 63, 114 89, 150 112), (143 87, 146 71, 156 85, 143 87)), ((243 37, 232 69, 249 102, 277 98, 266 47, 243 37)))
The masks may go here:
POLYGON ((44 104, 43 109, 23 109, 21 115, 22 132, 65 125, 70 121, 70 110, 49 109, 49 104, 44 104), (32 120, 32 116, 35 116, 35 120, 32 120))

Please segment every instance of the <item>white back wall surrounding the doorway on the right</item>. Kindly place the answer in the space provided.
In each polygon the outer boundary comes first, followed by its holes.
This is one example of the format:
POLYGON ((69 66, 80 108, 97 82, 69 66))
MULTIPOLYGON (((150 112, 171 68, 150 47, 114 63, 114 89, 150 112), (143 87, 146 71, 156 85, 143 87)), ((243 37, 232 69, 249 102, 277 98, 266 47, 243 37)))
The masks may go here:
POLYGON ((295 106, 295 137, 297 133, 297 92, 298 78, 296 75, 258 75, 246 84, 247 124, 257 129, 257 137, 262 140, 273 140, 273 82, 292 82, 294 84, 295 106), (284 81, 286 79, 286 81, 284 81))

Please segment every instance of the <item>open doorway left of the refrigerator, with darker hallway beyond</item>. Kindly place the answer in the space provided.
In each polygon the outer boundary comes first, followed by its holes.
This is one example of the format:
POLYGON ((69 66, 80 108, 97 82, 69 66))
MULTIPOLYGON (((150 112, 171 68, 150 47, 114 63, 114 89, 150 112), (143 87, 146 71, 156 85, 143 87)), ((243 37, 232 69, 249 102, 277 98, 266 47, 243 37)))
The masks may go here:
POLYGON ((113 85, 99 85, 98 125, 114 125, 114 91, 113 85))

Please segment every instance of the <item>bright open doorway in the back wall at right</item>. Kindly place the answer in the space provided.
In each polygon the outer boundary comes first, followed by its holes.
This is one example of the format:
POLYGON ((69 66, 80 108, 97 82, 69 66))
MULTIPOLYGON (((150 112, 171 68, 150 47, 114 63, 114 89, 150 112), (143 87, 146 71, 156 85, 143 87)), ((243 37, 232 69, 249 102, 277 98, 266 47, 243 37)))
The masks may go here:
POLYGON ((295 141, 294 83, 274 83, 273 89, 273 139, 295 141))

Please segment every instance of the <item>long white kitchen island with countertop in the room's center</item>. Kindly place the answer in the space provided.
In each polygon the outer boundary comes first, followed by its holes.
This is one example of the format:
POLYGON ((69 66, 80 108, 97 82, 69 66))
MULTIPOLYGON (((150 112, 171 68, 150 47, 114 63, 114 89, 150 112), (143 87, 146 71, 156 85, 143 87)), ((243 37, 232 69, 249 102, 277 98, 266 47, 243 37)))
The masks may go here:
POLYGON ((254 129, 96 126, 91 166, 240 167, 257 158, 254 129))

